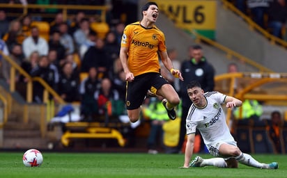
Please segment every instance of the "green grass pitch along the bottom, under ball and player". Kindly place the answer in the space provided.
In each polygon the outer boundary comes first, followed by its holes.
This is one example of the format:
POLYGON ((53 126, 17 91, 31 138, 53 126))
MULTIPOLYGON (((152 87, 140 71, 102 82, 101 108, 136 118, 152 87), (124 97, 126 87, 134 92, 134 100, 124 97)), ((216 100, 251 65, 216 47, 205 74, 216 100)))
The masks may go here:
MULTIPOLYGON (((24 152, 23 152, 24 153, 24 152)), ((287 155, 254 154, 258 161, 277 161, 278 170, 261 170, 240 164, 238 169, 189 168, 183 165, 183 154, 116 154, 116 153, 51 153, 42 152, 39 168, 26 168, 22 152, 0 152, 0 177, 286 177, 287 155)), ((200 154, 208 158, 208 154, 200 154)), ((194 155, 195 156, 195 155, 194 155)), ((194 157, 193 156, 193 157, 194 157)))

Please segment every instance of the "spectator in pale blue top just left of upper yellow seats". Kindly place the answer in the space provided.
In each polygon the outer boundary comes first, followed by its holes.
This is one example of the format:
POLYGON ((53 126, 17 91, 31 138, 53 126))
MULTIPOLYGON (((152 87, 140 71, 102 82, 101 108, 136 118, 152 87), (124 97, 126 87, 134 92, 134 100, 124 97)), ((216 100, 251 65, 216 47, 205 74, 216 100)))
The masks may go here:
POLYGON ((84 18, 80 22, 79 29, 73 33, 73 38, 75 40, 75 43, 77 44, 77 49, 79 50, 79 47, 81 47, 86 40, 88 40, 88 34, 90 33, 90 22, 88 19, 84 18))

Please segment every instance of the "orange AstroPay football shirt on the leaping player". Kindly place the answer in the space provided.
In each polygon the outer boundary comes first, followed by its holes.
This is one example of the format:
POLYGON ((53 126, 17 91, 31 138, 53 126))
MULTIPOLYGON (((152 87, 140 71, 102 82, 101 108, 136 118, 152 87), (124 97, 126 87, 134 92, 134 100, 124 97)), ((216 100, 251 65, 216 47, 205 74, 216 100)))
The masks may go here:
POLYGON ((123 31, 121 47, 127 47, 127 66, 134 76, 160 72, 157 51, 166 51, 164 33, 154 25, 146 29, 139 22, 129 24, 123 31))

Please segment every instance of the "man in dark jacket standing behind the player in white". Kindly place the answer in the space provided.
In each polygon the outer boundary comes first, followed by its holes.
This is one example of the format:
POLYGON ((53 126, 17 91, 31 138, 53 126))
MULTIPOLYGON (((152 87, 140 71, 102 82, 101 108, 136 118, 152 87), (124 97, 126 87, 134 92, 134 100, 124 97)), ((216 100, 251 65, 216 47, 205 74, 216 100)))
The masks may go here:
MULTIPOLYGON (((203 49, 199 45, 194 45, 188 49, 188 58, 181 64, 180 71, 183 74, 184 81, 180 81, 180 97, 183 101, 183 111, 180 122, 180 139, 178 141, 178 150, 183 147, 185 140, 186 125, 185 120, 189 107, 192 105, 192 101, 187 95, 187 85, 190 81, 198 81, 201 83, 202 89, 205 92, 210 92, 215 87, 215 70, 213 66, 208 63, 203 55, 203 49)), ((201 142, 203 143, 203 142, 201 142)), ((203 150, 203 148, 201 148, 203 150)))

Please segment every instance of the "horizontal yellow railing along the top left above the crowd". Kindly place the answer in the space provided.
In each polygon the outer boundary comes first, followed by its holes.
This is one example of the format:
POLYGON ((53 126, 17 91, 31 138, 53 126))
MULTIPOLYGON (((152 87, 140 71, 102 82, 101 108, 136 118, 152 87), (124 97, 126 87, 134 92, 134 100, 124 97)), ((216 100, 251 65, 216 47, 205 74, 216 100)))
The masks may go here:
MULTIPOLYGON (((37 5, 37 4, 28 4, 23 6, 22 4, 10 4, 10 3, 0 3, 1 8, 19 8, 22 9, 22 16, 28 14, 29 9, 59 9, 63 10, 63 19, 68 18, 68 10, 100 10, 100 22, 106 22, 106 13, 107 6, 76 6, 76 5, 37 5)), ((31 14, 33 15, 33 14, 31 14)), ((15 15, 19 17, 20 15, 15 15)))

